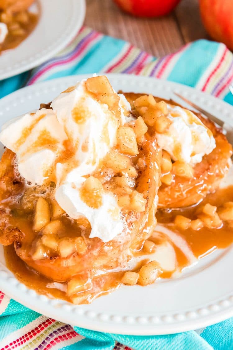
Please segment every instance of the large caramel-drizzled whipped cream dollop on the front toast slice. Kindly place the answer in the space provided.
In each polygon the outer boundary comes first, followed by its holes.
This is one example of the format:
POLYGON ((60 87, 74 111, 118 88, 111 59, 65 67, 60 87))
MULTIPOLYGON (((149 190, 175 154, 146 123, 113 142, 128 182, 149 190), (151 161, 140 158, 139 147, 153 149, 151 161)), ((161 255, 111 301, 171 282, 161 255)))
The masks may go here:
POLYGON ((130 104, 120 96, 119 114, 86 89, 86 80, 55 98, 52 110, 27 113, 3 126, 0 141, 16 153, 26 181, 42 184, 54 178, 55 198, 73 219, 84 216, 92 226, 90 238, 104 242, 123 232, 117 198, 102 191, 101 205, 92 208, 80 189, 100 161, 116 145, 117 128, 126 122, 130 104))

